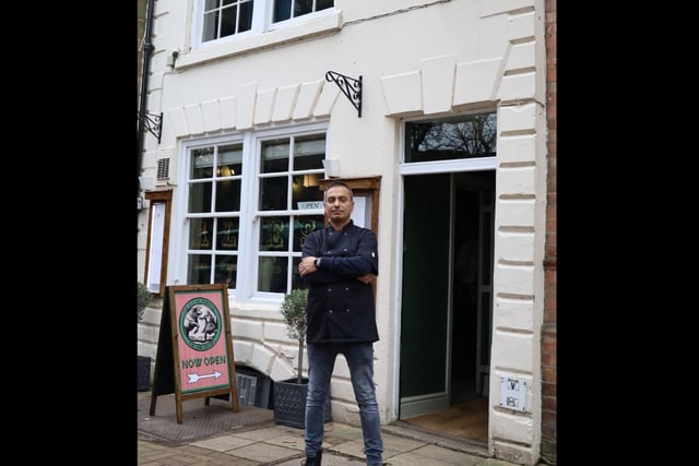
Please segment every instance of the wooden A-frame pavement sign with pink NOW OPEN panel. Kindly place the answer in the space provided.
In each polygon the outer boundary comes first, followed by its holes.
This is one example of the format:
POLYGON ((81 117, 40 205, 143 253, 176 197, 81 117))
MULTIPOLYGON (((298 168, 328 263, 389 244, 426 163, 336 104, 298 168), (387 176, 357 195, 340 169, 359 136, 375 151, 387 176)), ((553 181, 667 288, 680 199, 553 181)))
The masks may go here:
POLYGON ((157 396, 175 392, 177 423, 182 402, 228 395, 238 411, 226 284, 167 287, 163 301, 151 416, 157 396))

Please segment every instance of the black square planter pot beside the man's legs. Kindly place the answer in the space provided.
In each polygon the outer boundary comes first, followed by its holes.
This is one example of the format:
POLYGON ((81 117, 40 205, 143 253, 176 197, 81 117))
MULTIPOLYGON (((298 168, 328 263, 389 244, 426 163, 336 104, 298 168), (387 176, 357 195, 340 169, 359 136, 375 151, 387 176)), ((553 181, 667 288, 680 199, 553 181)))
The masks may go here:
MULTIPOLYGON (((306 428, 306 395, 308 379, 296 378, 274 382, 274 422, 288 427, 306 428)), ((330 395, 325 401, 325 422, 332 420, 330 395)))

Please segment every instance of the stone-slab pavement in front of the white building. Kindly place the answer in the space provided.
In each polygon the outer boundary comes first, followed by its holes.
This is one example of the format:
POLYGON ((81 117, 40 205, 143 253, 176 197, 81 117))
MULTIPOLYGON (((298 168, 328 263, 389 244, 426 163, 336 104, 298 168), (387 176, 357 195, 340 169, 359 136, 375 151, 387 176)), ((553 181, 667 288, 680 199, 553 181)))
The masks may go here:
MULTIPOLYGON (((181 403, 177 422, 174 394, 155 398, 138 392, 138 465, 276 465, 298 466, 304 455, 304 430, 277 425, 271 409, 209 398, 181 403)), ((487 447, 435 435, 402 423, 382 426, 387 466, 514 466, 488 457, 487 447)), ((325 423, 323 466, 366 465, 362 429, 342 422, 325 423)))

